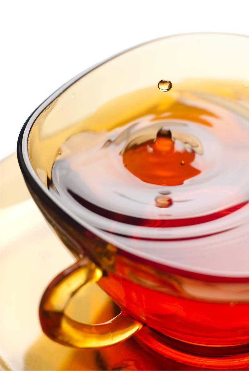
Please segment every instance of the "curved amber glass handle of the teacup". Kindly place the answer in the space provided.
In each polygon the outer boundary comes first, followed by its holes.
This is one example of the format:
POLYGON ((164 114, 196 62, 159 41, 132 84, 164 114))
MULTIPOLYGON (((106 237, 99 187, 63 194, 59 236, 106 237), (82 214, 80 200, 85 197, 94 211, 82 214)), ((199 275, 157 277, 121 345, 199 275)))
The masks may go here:
POLYGON ((69 347, 102 348, 132 336, 142 324, 120 313, 103 324, 74 321, 64 311, 73 295, 84 285, 97 282, 102 271, 89 259, 79 260, 60 273, 45 290, 39 308, 43 332, 50 339, 69 347))

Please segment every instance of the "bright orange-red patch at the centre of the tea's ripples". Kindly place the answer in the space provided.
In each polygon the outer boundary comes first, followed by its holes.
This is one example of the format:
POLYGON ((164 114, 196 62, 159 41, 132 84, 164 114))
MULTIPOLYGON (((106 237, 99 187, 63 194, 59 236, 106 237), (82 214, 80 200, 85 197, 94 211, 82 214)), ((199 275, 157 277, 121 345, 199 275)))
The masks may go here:
POLYGON ((157 136, 155 142, 145 142, 127 150, 123 154, 123 164, 146 183, 180 185, 200 174, 200 170, 191 165, 195 156, 195 152, 176 150, 170 137, 157 136))

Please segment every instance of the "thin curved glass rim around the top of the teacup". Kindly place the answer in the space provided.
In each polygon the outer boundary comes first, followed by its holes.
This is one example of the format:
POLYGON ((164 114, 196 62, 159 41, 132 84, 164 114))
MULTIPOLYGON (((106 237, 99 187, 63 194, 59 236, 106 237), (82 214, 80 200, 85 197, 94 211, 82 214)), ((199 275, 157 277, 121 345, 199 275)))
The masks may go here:
MULTIPOLYGON (((139 45, 133 46, 129 49, 123 50, 120 53, 117 53, 116 55, 103 60, 100 63, 97 63, 93 65, 92 67, 84 70, 83 72, 76 75, 74 78, 70 79, 68 82, 66 82, 64 85, 62 85, 59 89, 57 89, 52 95, 50 95, 43 103, 41 103, 40 106, 38 106, 33 113, 29 116, 27 121, 24 123, 17 142, 17 158, 19 161, 19 165, 21 168, 21 171, 24 175, 24 178, 26 182, 33 188, 33 190, 39 195, 39 197, 45 201, 46 203, 50 203, 50 206, 56 206, 56 209, 62 211, 65 215, 69 216, 71 220, 76 221, 77 224, 83 226, 96 236, 100 237, 101 239, 107 241, 108 243, 116 245, 116 242, 114 239, 109 237, 106 238, 106 235, 99 231, 97 228, 91 226, 90 224, 86 223, 84 220, 80 219, 76 215, 72 213, 71 210, 67 209, 66 206, 64 206, 63 203, 59 201, 56 197, 53 196, 53 194, 46 188, 46 186, 42 183, 36 172, 34 171, 28 154, 28 148, 27 148, 27 142, 28 137, 30 134, 30 131, 33 127, 34 122, 36 121, 37 117, 41 114, 41 112, 49 106, 54 99, 56 99, 59 95, 61 95, 67 88, 69 88, 71 85, 73 85, 77 80, 83 78, 83 76, 87 75, 89 72, 92 72, 94 69, 98 68, 99 66, 103 65, 106 62, 109 62, 110 60, 125 54, 126 52, 129 52, 130 50, 139 48, 141 46, 147 45, 149 43, 156 42, 161 39, 173 39, 177 37, 182 36, 196 36, 196 35, 219 35, 219 36, 238 36, 238 38, 245 37, 248 38, 248 35, 240 35, 240 34, 234 34, 234 33, 217 33, 217 32, 197 32, 197 33, 182 33, 182 34, 176 34, 176 35, 169 35, 169 36, 163 36, 159 37, 157 39, 149 40, 147 42, 141 43, 139 45)), ((209 269, 194 269, 193 267, 184 265, 184 264, 176 264, 174 262, 171 262, 170 260, 162 259, 162 258, 156 258, 153 255, 150 255, 148 253, 138 252, 134 249, 131 249, 127 247, 126 245, 119 245, 117 246, 120 250, 124 250, 125 252, 129 253, 132 256, 139 257, 141 259, 159 264, 160 266, 168 266, 170 268, 180 270, 182 272, 189 272, 199 275, 205 275, 205 276, 212 276, 212 277, 220 277, 220 278, 228 278, 228 279, 242 279, 243 281, 249 280, 249 272, 226 272, 226 271, 219 271, 219 270, 209 270, 209 269)))

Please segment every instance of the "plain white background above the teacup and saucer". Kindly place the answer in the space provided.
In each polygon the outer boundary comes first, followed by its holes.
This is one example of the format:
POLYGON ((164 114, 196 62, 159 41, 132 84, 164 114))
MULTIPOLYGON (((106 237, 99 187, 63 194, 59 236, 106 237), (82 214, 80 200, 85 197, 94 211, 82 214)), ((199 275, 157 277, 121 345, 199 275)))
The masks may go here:
POLYGON ((16 150, 30 113, 89 66, 156 37, 249 34, 246 0, 22 0, 0 12, 0 159, 16 150))

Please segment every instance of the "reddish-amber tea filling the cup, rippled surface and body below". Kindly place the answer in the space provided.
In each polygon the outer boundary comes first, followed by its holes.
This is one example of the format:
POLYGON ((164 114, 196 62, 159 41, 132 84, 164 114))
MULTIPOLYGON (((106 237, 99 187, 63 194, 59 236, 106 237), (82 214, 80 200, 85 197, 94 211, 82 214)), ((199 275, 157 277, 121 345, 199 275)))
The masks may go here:
POLYGON ((137 101, 136 114, 68 138, 49 189, 120 249, 119 277, 109 273, 99 285, 122 308, 174 339, 245 351, 249 92, 219 81, 173 86, 169 96, 153 89, 116 102, 137 101), (146 94, 152 103, 144 107, 146 94), (122 251, 136 256, 135 266, 122 251), (195 292, 186 293, 180 273, 162 289, 153 262, 165 265, 166 275, 167 267, 189 272, 195 292))

